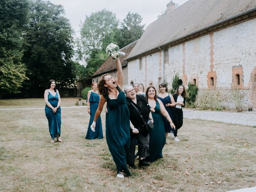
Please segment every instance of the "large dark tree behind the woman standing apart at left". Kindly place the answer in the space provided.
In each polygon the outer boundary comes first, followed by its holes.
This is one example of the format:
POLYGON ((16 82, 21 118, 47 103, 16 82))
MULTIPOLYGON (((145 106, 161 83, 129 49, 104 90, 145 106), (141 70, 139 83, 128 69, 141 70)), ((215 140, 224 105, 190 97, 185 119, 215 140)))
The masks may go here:
POLYGON ((24 85, 26 89, 41 92, 50 79, 55 79, 59 88, 74 84, 72 33, 61 5, 31 1, 23 57, 30 78, 24 85))

